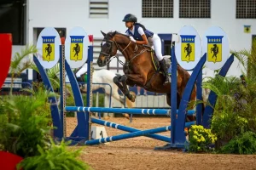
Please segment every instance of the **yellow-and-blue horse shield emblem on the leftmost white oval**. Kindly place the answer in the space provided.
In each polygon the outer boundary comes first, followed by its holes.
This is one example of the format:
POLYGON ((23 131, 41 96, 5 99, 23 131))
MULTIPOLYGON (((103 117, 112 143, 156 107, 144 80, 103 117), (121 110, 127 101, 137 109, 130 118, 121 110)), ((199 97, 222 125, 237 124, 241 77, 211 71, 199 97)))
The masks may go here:
POLYGON ((42 36, 43 38, 43 60, 55 60, 55 36, 42 36))

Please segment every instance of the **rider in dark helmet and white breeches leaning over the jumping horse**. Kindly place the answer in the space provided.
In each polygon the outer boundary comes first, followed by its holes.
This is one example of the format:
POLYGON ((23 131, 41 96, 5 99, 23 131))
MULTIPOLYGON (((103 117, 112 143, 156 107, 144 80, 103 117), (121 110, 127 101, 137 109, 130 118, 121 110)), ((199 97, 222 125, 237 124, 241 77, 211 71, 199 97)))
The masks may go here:
POLYGON ((154 34, 152 31, 148 31, 145 26, 140 23, 137 23, 137 17, 133 14, 126 14, 123 20, 125 22, 125 26, 128 28, 125 31, 126 35, 130 36, 132 42, 136 42, 137 44, 152 44, 154 45, 154 51, 157 59, 160 61, 160 68, 164 72, 164 76, 166 77, 165 83, 171 82, 170 76, 168 75, 168 69, 166 67, 166 60, 163 58, 161 54, 161 40, 157 34, 154 34))

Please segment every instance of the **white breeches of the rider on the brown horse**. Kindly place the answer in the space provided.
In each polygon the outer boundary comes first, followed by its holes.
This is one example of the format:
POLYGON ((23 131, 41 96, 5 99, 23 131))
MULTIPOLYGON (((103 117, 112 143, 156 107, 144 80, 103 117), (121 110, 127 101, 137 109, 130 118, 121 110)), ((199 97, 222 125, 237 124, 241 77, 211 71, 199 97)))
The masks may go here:
POLYGON ((156 54, 156 57, 158 60, 162 60, 163 59, 163 55, 162 55, 162 43, 160 40, 160 37, 158 37, 158 35, 154 34, 153 37, 149 37, 148 38, 148 45, 149 46, 154 46, 154 52, 156 54))

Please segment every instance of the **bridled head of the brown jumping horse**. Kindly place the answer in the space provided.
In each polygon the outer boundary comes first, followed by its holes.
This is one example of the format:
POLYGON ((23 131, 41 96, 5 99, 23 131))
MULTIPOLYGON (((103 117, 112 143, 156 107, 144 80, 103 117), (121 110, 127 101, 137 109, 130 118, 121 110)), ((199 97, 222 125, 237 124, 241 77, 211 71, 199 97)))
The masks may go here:
POLYGON ((97 60, 97 64, 99 66, 105 66, 109 62, 109 59, 115 54, 117 54, 118 47, 116 44, 114 44, 114 41, 113 41, 115 34, 116 34, 116 31, 108 32, 108 34, 102 32, 102 35, 104 36, 104 38, 101 44, 102 50, 97 60))

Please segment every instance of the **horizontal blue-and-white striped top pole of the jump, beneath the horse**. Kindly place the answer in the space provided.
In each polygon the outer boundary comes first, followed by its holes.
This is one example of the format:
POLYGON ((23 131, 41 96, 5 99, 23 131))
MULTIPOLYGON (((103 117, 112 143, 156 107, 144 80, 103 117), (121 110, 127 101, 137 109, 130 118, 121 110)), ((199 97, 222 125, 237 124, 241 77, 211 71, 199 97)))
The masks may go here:
MULTIPOLYGON (((78 107, 67 106, 66 111, 88 111, 88 112, 111 112, 111 113, 128 113, 136 115, 164 115, 170 116, 171 110, 164 109, 125 109, 125 108, 102 108, 102 107, 78 107)), ((194 110, 187 111, 187 115, 194 115, 194 110)))

